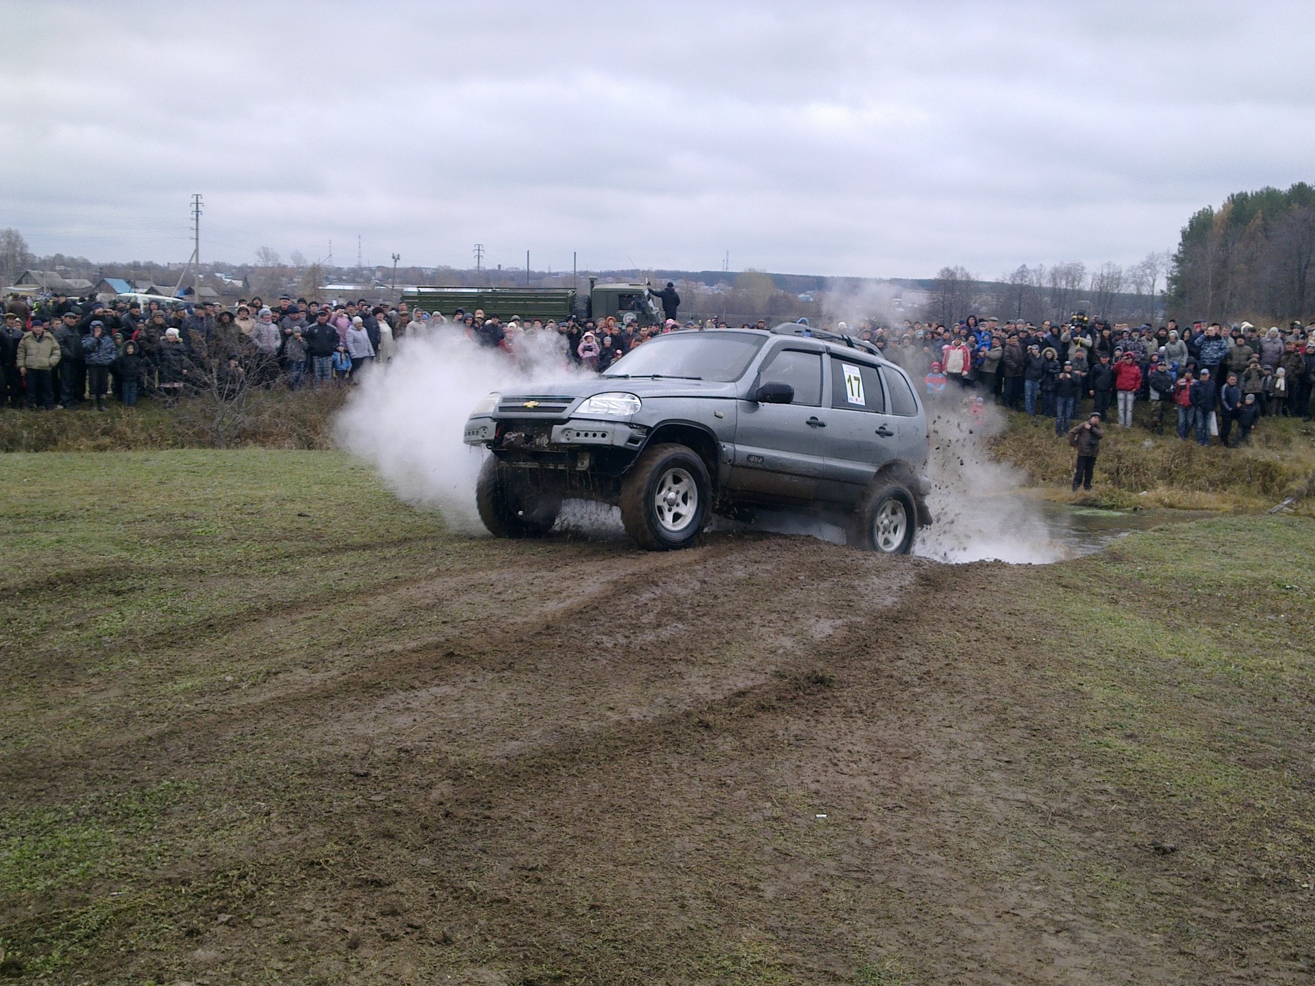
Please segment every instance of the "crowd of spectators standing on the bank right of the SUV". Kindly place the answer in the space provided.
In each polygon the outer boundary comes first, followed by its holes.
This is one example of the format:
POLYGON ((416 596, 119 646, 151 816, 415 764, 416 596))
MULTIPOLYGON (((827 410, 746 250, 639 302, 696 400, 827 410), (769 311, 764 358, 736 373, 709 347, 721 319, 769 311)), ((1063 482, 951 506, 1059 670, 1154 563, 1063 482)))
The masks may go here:
POLYGON ((999 323, 995 318, 944 325, 905 322, 873 330, 885 356, 922 379, 931 400, 970 390, 982 401, 1055 419, 1066 435, 1073 421, 1114 409, 1130 429, 1139 402, 1143 423, 1208 444, 1247 442, 1264 417, 1315 414, 1315 322, 1257 330, 1169 319, 1159 329, 1089 319, 999 323), (897 338, 892 338, 897 337, 897 338), (1237 434, 1233 435, 1233 429, 1237 434))

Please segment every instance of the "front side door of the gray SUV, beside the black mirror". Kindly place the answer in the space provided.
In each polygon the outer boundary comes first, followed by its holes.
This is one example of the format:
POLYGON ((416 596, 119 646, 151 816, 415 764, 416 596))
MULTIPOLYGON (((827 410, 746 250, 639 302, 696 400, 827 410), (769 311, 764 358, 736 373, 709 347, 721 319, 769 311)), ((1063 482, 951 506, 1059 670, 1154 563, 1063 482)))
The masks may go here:
POLYGON ((794 388, 790 404, 742 400, 729 489, 750 498, 805 502, 817 496, 826 464, 822 435, 822 350, 788 343, 764 359, 750 393, 767 383, 794 388))

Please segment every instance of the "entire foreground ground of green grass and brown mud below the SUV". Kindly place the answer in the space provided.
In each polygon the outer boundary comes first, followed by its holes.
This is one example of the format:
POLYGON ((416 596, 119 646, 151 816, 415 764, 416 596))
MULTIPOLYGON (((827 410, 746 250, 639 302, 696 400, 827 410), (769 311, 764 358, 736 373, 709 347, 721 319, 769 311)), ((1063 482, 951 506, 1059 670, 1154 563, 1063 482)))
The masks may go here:
POLYGON ((1315 974, 1306 518, 646 555, 333 452, 3 465, 7 975, 1315 974))

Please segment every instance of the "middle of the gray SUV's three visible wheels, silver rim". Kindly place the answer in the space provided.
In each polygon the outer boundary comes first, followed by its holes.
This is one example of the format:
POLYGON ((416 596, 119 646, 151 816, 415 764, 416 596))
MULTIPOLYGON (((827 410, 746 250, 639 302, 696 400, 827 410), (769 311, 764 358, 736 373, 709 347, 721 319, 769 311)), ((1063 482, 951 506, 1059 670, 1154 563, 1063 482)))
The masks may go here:
POLYGON ((646 551, 685 548, 704 530, 713 482, 698 454, 664 443, 646 448, 621 481, 621 522, 646 551))

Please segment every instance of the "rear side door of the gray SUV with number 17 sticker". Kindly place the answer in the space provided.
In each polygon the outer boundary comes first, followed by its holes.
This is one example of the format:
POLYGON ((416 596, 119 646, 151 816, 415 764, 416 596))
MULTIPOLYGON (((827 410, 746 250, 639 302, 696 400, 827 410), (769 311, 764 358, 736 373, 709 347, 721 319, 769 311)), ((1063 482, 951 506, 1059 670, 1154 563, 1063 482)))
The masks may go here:
POLYGON ((876 364, 856 356, 828 356, 831 411, 826 429, 826 468, 818 496, 856 504, 877 469, 897 456, 898 419, 886 413, 876 364))

